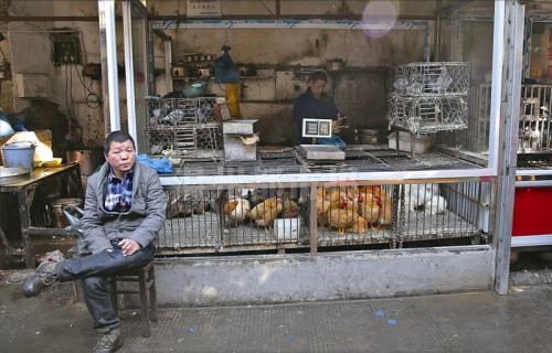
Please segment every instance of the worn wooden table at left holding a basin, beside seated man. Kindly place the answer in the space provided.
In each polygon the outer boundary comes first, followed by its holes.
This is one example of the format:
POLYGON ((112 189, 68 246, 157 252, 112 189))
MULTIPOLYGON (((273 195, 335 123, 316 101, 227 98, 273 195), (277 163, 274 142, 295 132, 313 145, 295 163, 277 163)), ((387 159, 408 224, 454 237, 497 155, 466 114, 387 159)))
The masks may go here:
POLYGON ((65 235, 67 232, 63 228, 39 228, 31 226, 31 205, 34 200, 34 192, 39 184, 59 180, 63 196, 83 196, 83 186, 81 183, 81 170, 77 163, 70 163, 54 168, 36 168, 29 174, 0 178, 0 192, 18 194, 19 213, 21 217, 21 237, 23 239, 23 249, 8 248, 6 253, 12 255, 22 255, 25 265, 34 268, 34 256, 30 235, 65 235))

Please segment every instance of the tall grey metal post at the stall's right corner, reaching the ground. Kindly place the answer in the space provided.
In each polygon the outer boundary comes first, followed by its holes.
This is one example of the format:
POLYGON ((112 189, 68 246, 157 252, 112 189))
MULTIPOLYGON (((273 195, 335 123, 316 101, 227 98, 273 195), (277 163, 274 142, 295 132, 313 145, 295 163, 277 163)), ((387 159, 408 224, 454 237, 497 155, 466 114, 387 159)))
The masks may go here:
POLYGON ((508 292, 510 272, 510 252, 512 236, 513 199, 516 191, 516 165, 518 162, 518 133, 521 100, 521 69, 523 66, 523 30, 526 7, 518 0, 505 3, 508 46, 506 69, 506 103, 502 147, 499 153, 499 178, 497 200, 496 245, 497 261, 495 290, 499 295, 508 292))

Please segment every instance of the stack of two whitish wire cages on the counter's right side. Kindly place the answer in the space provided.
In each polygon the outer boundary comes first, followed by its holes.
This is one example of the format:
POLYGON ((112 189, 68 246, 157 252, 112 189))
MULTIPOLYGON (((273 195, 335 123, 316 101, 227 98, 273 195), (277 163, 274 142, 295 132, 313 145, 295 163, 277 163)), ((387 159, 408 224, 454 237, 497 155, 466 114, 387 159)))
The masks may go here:
POLYGON ((469 63, 411 63, 396 69, 390 127, 412 133, 467 128, 469 63))

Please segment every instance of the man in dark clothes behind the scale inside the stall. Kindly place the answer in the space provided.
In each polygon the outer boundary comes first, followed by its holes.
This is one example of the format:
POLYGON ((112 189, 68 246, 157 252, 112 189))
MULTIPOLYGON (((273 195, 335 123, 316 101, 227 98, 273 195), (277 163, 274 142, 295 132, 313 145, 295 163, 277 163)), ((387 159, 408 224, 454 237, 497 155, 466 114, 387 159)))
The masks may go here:
MULTIPOLYGON (((341 116, 336 107, 333 97, 329 96, 326 90, 328 76, 321 71, 312 73, 308 81, 308 89, 300 95, 294 104, 294 120, 299 131, 299 141, 301 145, 312 145, 314 140, 304 138, 302 119, 332 119, 331 132, 337 133, 341 130, 341 116)), ((339 136, 331 138, 317 139, 318 145, 335 145, 339 148, 344 148, 346 142, 339 136)))

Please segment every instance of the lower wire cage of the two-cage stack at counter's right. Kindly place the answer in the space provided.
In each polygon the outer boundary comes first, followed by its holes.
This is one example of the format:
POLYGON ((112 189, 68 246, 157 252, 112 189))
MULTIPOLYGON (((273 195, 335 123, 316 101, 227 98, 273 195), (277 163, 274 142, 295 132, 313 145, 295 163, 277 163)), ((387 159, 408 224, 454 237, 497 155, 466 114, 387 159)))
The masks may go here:
POLYGON ((461 130, 467 125, 464 97, 391 97, 390 126, 413 133, 461 130))

